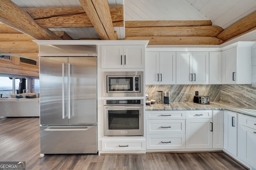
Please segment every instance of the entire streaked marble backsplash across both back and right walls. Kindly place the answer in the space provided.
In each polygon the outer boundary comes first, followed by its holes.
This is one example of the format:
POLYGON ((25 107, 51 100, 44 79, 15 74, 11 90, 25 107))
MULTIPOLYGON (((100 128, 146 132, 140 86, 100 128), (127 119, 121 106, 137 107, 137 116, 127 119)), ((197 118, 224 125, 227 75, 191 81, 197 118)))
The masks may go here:
POLYGON ((256 107, 256 87, 247 84, 146 85, 146 94, 158 101, 157 91, 170 91, 169 102, 193 102, 195 91, 210 102, 256 107))

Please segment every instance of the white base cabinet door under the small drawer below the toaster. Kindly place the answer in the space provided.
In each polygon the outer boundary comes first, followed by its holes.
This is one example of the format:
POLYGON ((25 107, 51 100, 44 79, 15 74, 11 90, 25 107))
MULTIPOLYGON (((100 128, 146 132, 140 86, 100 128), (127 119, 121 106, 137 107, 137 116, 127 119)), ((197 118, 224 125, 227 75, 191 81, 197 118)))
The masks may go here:
POLYGON ((212 119, 186 119, 186 149, 212 148, 212 119))

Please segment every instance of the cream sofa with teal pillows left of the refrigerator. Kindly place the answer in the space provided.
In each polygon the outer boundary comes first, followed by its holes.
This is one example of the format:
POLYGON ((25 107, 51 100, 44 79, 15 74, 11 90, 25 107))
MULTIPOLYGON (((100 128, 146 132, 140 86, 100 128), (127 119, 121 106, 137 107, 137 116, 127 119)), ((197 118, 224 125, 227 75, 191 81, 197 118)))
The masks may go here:
POLYGON ((0 117, 38 117, 39 93, 10 94, 0 98, 0 117))

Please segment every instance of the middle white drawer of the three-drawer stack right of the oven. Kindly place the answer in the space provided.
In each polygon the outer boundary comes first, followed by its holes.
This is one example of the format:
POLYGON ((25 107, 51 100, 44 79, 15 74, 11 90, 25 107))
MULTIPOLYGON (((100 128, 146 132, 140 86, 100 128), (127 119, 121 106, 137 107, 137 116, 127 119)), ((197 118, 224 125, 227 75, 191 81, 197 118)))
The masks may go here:
POLYGON ((147 120, 147 134, 185 134, 185 120, 147 120))

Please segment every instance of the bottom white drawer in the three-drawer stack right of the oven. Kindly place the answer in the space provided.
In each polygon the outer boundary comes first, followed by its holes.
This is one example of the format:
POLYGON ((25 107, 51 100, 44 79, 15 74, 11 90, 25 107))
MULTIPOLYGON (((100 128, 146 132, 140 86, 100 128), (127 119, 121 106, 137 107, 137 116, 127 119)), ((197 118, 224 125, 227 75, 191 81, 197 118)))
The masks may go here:
POLYGON ((146 149, 185 149, 185 134, 147 135, 146 149))

